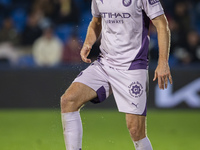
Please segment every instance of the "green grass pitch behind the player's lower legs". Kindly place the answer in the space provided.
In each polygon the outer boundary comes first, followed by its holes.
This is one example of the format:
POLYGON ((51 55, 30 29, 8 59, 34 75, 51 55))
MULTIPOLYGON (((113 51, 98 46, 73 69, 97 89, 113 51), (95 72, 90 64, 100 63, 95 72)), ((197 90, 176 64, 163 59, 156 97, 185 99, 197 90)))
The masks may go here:
MULTIPOLYGON (((81 110, 83 150, 134 150, 123 113, 81 110)), ((154 150, 199 150, 200 111, 149 110, 148 136, 154 150)), ((0 110, 0 150, 65 150, 60 112, 0 110)))

